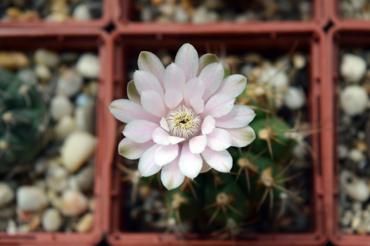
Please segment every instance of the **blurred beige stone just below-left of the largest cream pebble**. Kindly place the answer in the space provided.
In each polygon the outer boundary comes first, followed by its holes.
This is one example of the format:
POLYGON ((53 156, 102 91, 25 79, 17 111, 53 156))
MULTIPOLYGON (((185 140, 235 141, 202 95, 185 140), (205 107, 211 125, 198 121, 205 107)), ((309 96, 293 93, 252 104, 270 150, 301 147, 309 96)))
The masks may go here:
POLYGON ((50 167, 46 171, 46 185, 48 189, 57 192, 63 191, 67 187, 68 172, 63 167, 50 167))

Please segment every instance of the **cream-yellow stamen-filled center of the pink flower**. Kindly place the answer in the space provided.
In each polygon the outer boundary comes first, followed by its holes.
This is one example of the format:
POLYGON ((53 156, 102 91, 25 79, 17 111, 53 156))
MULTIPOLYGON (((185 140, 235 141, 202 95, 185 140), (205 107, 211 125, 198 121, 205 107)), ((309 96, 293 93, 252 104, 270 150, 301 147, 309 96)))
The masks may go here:
POLYGON ((201 118, 195 112, 184 105, 168 113, 166 121, 169 128, 169 135, 186 140, 198 134, 201 125, 201 118))

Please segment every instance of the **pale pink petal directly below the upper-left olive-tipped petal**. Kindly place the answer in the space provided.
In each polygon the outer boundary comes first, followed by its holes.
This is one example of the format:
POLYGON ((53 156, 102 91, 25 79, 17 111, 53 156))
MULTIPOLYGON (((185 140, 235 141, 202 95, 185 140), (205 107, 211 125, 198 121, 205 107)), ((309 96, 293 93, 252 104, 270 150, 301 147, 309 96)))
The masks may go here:
POLYGON ((156 91, 161 97, 164 97, 164 92, 161 83, 150 72, 144 70, 136 70, 134 73, 134 81, 136 90, 141 95, 143 91, 156 91))

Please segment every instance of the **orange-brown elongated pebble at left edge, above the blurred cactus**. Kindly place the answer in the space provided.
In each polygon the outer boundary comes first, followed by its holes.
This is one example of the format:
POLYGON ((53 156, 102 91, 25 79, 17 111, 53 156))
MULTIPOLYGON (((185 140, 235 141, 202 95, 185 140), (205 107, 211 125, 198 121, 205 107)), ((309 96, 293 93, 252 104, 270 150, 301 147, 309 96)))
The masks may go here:
POLYGON ((0 51, 0 67, 10 70, 24 68, 30 64, 26 54, 18 51, 0 51))

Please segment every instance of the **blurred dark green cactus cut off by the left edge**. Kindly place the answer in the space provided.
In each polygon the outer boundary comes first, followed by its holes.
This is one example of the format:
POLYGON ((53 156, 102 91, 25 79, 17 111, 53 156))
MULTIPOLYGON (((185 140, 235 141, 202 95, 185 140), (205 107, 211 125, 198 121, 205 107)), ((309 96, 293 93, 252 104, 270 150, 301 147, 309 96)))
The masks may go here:
POLYGON ((32 162, 45 144, 47 105, 40 92, 0 70, 0 173, 32 162))

